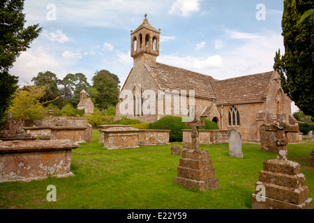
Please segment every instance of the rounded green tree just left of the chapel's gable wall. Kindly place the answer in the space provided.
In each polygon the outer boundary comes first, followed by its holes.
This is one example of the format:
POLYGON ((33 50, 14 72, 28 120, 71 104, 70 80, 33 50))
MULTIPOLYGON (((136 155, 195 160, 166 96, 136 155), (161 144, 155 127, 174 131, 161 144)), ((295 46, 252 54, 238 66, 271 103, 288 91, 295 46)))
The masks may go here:
POLYGON ((110 72, 98 72, 92 79, 90 95, 94 105, 100 109, 116 106, 118 102, 119 86, 110 74, 110 72))

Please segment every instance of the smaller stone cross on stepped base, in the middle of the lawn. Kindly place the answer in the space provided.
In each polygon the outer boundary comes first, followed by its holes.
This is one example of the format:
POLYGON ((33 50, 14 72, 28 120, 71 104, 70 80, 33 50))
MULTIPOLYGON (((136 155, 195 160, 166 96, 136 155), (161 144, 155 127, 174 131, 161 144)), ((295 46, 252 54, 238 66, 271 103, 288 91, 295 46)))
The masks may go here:
POLYGON ((186 123, 186 126, 192 127, 192 144, 190 149, 182 151, 177 177, 174 178, 174 183, 202 192, 218 189, 218 178, 215 178, 215 169, 212 160, 209 159, 209 152, 199 148, 198 128, 204 125, 204 121, 200 121, 199 118, 186 123))

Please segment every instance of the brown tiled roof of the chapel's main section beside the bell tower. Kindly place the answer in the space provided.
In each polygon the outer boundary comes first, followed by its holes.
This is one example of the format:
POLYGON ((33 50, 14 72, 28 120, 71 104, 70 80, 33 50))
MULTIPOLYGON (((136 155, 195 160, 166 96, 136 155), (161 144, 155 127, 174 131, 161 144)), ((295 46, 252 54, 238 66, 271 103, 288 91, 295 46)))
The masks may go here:
POLYGON ((211 87, 214 78, 183 68, 156 63, 156 67, 146 65, 151 76, 161 90, 195 91, 196 98, 214 99, 216 95, 211 87))

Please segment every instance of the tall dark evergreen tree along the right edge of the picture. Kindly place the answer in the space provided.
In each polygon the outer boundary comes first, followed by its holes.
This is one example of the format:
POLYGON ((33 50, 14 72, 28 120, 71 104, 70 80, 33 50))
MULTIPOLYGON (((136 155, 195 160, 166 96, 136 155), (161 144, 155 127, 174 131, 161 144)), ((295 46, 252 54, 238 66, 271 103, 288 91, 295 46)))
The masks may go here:
POLYGON ((285 54, 276 52, 274 69, 281 76, 283 91, 295 105, 309 116, 314 116, 314 18, 306 22, 302 15, 314 8, 313 0, 285 0, 283 10, 283 38, 285 54))

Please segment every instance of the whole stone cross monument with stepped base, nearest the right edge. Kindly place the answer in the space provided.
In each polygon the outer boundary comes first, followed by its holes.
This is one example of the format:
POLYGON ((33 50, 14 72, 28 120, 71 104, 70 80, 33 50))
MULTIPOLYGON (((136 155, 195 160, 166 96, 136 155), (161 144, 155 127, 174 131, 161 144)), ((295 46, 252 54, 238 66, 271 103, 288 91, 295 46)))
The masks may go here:
POLYGON ((287 132, 297 130, 295 125, 285 122, 278 114, 278 122, 265 126, 267 131, 276 132, 277 159, 263 163, 259 181, 252 194, 253 209, 312 209, 313 199, 308 198, 308 187, 301 174, 301 165, 287 160, 287 132))

